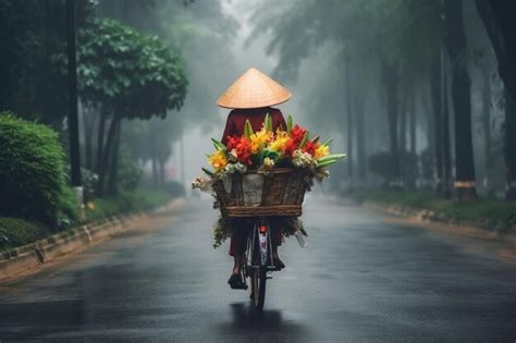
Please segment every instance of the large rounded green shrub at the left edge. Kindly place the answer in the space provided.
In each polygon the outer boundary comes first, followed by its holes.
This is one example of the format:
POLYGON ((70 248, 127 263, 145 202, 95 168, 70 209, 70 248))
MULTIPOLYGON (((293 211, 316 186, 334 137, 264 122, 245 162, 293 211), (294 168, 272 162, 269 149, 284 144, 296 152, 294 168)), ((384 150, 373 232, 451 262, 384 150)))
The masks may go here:
POLYGON ((0 112, 0 213, 57 224, 63 186, 58 134, 0 112))

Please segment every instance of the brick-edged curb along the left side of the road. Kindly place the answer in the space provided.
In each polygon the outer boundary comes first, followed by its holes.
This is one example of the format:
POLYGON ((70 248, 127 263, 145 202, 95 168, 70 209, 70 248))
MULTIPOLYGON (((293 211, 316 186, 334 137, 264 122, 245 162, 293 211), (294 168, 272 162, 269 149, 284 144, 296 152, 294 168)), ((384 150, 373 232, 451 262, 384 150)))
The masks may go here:
POLYGON ((100 223, 81 225, 1 253, 0 281, 99 243, 125 231, 131 222, 145 217, 145 213, 111 217, 100 223))

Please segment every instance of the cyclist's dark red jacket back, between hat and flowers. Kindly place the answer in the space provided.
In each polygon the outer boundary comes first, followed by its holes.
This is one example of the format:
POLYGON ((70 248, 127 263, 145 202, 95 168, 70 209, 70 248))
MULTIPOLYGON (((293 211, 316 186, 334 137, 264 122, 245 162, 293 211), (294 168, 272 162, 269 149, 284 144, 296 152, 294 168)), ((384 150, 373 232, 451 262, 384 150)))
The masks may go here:
POLYGON ((278 127, 286 130, 285 119, 279 109, 263 107, 259 109, 232 110, 230 115, 228 115, 222 143, 226 145, 229 136, 242 136, 244 134, 246 120, 249 120, 254 132, 260 131, 267 113, 271 115, 274 132, 278 127))

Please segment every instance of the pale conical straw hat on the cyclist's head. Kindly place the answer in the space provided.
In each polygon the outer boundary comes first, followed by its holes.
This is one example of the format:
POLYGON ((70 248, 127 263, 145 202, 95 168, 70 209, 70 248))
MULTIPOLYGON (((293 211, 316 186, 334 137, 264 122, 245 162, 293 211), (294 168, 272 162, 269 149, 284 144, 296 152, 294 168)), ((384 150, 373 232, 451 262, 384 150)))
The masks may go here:
POLYGON ((256 109, 285 102, 291 97, 288 89, 251 68, 225 89, 217 105, 229 109, 256 109))

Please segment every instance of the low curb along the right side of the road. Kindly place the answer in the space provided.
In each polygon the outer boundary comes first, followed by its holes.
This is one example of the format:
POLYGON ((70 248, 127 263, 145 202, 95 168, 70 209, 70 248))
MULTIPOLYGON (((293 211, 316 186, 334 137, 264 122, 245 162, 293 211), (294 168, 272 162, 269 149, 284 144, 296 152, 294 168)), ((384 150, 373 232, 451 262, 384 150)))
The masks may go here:
POLYGON ((460 220, 446 216, 445 213, 433 211, 429 209, 415 209, 406 206, 383 204, 377 201, 364 201, 366 208, 388 212, 395 216, 413 218, 420 222, 441 223, 446 225, 453 225, 458 228, 468 228, 478 231, 482 231, 490 234, 495 234, 497 237, 516 243, 516 228, 504 228, 500 222, 491 221, 474 221, 474 220, 460 220), (513 231, 515 233, 508 233, 513 231))

